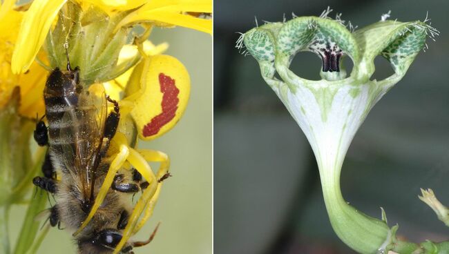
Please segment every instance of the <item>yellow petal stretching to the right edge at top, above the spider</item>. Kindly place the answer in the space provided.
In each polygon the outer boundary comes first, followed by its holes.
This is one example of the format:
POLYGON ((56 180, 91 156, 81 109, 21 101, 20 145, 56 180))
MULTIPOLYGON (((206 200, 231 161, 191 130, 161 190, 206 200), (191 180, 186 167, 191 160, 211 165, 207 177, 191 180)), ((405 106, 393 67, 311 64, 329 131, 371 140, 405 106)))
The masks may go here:
POLYGON ((152 21, 156 26, 182 26, 212 34, 212 20, 200 19, 184 12, 211 13, 211 1, 151 1, 129 14, 120 26, 127 23, 152 21))

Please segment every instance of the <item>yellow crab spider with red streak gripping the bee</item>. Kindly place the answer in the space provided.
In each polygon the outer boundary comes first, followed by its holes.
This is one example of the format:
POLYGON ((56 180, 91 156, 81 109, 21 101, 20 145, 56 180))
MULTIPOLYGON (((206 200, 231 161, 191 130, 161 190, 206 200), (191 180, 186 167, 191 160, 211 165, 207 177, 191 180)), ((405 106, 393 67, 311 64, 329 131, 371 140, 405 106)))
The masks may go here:
MULTIPOLYGON (((143 51, 143 50, 142 50, 143 51)), ((141 51, 141 52, 142 52, 141 51)), ((149 183, 133 208, 128 224, 123 231, 122 240, 114 253, 120 253, 129 237, 142 228, 151 217, 160 195, 162 180, 168 176, 170 160, 168 155, 157 150, 139 150, 127 137, 137 128, 138 137, 151 140, 163 135, 179 121, 187 106, 190 92, 189 74, 185 67, 167 55, 144 55, 142 62, 135 66, 128 79, 126 97, 120 104, 120 125, 111 140, 108 155, 113 158, 104 183, 95 198, 88 217, 73 234, 80 233, 102 205, 114 177, 119 170, 135 168, 149 183), (131 120, 132 119, 132 120, 131 120), (134 124, 129 121, 134 121, 134 124), (125 162, 132 167, 124 167, 125 162), (159 162, 157 173, 153 173, 149 162, 159 162), (139 218, 142 218, 139 220, 139 218)))

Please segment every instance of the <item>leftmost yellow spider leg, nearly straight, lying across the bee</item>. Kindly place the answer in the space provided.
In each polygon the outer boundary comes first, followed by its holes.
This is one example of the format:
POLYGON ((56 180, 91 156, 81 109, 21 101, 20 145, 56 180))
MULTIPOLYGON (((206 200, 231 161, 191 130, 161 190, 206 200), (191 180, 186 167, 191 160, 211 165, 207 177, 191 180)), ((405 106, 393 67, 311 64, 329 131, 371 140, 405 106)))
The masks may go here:
POLYGON ((126 159, 128 158, 129 153, 130 151, 128 146, 125 146, 123 144, 120 145, 120 152, 115 155, 115 158, 111 162, 108 173, 106 173, 106 177, 104 177, 102 187, 99 189, 97 197, 95 198, 95 202, 93 203, 92 208, 90 208, 88 216, 86 217, 86 219, 84 219, 84 222, 81 224, 81 226, 79 226, 78 230, 73 233, 73 236, 78 235, 79 232, 81 232, 87 226, 93 215, 95 215, 99 206, 103 203, 104 197, 106 197, 109 188, 111 188, 111 184, 114 181, 114 177, 117 174, 117 171, 122 168, 124 162, 126 162, 126 159))

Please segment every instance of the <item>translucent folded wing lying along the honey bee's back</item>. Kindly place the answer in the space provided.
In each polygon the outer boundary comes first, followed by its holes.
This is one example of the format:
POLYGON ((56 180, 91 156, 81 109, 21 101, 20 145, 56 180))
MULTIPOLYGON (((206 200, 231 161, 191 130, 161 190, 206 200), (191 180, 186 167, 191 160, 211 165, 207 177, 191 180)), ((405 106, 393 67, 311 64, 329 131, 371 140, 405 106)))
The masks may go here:
POLYGON ((101 85, 93 85, 79 94, 75 112, 65 113, 63 117, 63 121, 72 125, 64 129, 60 135, 73 141, 64 145, 64 164, 73 177, 83 184, 85 195, 95 181, 95 170, 100 159, 99 150, 102 148, 106 107, 104 88, 101 85))

